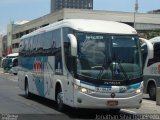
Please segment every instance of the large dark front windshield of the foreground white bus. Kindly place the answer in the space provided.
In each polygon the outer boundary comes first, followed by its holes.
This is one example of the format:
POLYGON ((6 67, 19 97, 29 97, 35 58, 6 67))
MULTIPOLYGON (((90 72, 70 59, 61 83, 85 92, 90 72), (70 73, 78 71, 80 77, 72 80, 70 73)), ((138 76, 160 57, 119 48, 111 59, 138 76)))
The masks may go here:
POLYGON ((130 80, 142 76, 136 35, 76 33, 77 75, 98 80, 130 80))

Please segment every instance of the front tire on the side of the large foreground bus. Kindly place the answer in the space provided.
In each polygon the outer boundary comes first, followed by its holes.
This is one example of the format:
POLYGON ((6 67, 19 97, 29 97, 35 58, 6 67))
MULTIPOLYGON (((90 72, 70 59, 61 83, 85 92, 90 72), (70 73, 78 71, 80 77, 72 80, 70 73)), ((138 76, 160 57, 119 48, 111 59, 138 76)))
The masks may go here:
POLYGON ((63 104, 63 93, 61 88, 59 88, 56 93, 56 103, 57 103, 57 109, 59 111, 64 111, 65 106, 63 104))

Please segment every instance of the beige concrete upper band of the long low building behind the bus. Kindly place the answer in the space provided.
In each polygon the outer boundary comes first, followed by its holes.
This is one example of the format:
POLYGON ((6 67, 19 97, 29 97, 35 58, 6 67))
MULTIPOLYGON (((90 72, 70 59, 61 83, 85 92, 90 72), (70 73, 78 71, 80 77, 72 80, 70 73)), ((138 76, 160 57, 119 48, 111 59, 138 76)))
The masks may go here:
MULTIPOLYGON (((136 13, 135 16, 136 30, 141 31, 141 33, 149 31, 149 34, 152 31, 158 31, 158 34, 160 35, 160 14, 136 13)), ((131 12, 61 9, 25 24, 14 26, 12 32, 10 32, 12 34, 8 34, 12 37, 12 52, 18 52, 20 38, 23 35, 63 19, 96 19, 117 21, 131 26, 134 25, 134 13, 131 12)))

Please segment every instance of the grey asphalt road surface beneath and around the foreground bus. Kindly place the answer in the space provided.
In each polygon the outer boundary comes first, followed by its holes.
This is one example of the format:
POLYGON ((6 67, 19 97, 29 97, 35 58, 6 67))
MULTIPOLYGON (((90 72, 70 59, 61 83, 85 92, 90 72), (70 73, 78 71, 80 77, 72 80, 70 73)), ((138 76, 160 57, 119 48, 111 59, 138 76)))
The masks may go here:
MULTIPOLYGON (((67 120, 67 119, 134 119, 137 114, 160 114, 160 106, 144 95, 140 109, 122 109, 119 114, 107 110, 56 109, 54 101, 33 96, 27 99, 17 86, 17 76, 0 73, 0 119, 2 120, 67 120)), ((159 117, 160 118, 160 117, 159 117)))

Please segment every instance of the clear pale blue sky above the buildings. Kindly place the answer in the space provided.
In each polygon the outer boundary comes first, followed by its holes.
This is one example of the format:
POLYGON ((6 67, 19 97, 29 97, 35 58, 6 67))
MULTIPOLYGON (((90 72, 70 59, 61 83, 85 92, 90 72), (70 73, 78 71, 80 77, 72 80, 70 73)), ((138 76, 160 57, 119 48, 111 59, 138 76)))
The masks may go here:
MULTIPOLYGON (((160 0, 138 0, 138 12, 160 9, 160 0)), ((134 12, 135 0, 94 0, 94 10, 134 12)), ((39 18, 50 13, 50 0, 0 0, 0 34, 10 21, 39 18)))

